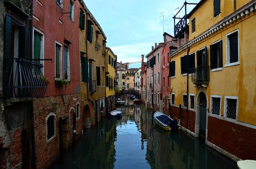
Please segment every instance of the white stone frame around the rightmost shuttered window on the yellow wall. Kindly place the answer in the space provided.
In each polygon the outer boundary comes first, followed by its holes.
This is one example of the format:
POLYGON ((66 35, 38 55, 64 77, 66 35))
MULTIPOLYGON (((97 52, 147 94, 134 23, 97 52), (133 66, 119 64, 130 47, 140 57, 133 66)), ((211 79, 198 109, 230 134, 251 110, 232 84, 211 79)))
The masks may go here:
POLYGON ((234 30, 234 31, 232 31, 232 32, 229 32, 228 34, 226 34, 225 35, 225 41, 226 41, 226 48, 225 48, 225 50, 226 50, 226 64, 224 65, 225 67, 228 67, 228 66, 235 66, 235 65, 239 65, 240 64, 240 60, 239 60, 239 29, 236 29, 236 30, 234 30), (229 54, 229 39, 228 39, 228 36, 229 35, 231 35, 231 34, 233 34, 233 33, 235 33, 235 32, 237 32, 237 42, 238 42, 238 44, 237 44, 237 47, 238 47, 238 50, 237 50, 237 52, 238 52, 238 54, 237 54, 237 62, 234 62, 234 63, 229 63, 229 61, 230 61, 230 54, 229 54))

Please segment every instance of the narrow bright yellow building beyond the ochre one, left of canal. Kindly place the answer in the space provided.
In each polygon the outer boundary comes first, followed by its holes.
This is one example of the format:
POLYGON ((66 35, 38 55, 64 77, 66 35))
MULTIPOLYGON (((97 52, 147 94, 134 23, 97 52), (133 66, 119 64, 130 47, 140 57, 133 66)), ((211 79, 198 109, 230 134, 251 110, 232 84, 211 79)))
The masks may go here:
POLYGON ((106 47, 106 113, 115 109, 115 74, 117 56, 106 47))

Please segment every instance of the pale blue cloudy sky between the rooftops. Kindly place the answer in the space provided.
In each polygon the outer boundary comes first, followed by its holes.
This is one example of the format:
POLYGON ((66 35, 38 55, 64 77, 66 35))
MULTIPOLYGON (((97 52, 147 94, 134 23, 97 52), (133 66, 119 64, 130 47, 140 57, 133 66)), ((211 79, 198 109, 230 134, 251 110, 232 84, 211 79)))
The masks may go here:
MULTIPOLYGON (((173 35, 173 19, 185 2, 181 0, 84 0, 107 37, 118 62, 141 61, 155 43, 163 42, 163 32, 173 35)), ((198 3, 199 0, 188 0, 198 3)), ((188 5, 188 12, 195 5, 188 5)), ((184 16, 184 8, 177 15, 184 16)), ((130 64, 139 68, 141 64, 130 64)))

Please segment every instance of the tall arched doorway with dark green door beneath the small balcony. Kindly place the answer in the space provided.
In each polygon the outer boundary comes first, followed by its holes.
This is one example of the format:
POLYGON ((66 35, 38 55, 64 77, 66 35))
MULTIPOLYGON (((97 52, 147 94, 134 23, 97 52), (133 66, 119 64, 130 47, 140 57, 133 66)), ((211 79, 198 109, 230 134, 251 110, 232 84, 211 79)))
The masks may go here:
POLYGON ((198 95, 198 108, 199 108, 199 137, 205 139, 206 137, 206 107, 207 107, 207 99, 204 92, 201 92, 198 95))

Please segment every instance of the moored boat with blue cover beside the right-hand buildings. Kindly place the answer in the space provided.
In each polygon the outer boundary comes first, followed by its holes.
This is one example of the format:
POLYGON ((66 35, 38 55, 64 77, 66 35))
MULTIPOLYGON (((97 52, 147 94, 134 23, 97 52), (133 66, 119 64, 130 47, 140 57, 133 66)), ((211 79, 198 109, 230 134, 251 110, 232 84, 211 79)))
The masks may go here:
POLYGON ((181 128, 180 124, 178 124, 175 119, 172 119, 168 115, 163 114, 161 112, 158 112, 158 111, 155 112, 154 119, 155 119, 155 123, 157 123, 158 126, 163 128, 164 130, 179 131, 181 128))

